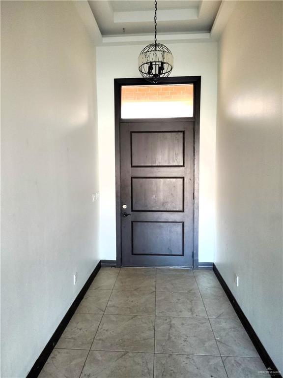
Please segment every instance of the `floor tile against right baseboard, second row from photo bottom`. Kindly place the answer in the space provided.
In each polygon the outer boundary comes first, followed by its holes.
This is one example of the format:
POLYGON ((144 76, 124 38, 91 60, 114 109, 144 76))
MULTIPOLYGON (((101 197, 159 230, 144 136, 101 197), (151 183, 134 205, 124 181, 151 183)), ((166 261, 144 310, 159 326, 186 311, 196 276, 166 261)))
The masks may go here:
POLYGON ((222 356, 258 357, 247 332, 237 319, 210 319, 222 356))

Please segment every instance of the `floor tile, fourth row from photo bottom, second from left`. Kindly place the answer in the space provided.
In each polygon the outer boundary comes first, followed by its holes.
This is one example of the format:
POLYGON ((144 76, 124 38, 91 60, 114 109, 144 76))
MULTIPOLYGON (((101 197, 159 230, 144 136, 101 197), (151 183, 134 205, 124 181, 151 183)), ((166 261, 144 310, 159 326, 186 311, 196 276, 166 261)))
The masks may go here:
POLYGON ((114 290, 155 290, 155 274, 119 274, 114 290))

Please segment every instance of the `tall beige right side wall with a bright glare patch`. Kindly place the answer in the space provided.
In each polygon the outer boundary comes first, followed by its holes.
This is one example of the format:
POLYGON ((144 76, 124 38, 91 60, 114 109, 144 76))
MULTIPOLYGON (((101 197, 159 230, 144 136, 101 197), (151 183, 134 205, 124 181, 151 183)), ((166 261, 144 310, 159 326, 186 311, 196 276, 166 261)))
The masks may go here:
POLYGON ((281 371, 282 5, 238 1, 219 46, 215 257, 281 371))

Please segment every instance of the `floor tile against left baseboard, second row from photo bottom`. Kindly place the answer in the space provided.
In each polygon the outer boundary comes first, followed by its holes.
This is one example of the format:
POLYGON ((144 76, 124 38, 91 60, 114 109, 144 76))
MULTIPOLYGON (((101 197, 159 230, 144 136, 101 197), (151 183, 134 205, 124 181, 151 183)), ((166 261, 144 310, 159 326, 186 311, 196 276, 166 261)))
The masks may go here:
POLYGON ((74 314, 56 348, 90 349, 102 315, 74 314))

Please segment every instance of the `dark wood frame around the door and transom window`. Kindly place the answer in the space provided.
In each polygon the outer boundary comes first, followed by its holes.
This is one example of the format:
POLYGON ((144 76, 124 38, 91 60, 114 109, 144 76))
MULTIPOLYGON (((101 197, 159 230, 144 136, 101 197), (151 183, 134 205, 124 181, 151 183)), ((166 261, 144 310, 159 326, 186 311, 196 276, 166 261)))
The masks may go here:
MULTIPOLYGON (((186 118, 194 122, 194 214, 193 214, 193 267, 198 269, 198 202, 199 202, 199 115, 200 115, 200 82, 201 76, 168 77, 160 81, 164 84, 194 84, 194 115, 186 118)), ((121 87, 124 85, 158 85, 149 83, 143 78, 114 79, 114 111, 115 111, 115 187, 116 187, 116 266, 122 265, 121 237, 121 166, 120 166, 120 122, 130 122, 121 118, 121 87)), ((135 119, 132 121, 138 121, 135 119)), ((141 119, 141 121, 153 121, 141 119)), ((181 118, 180 118, 181 120, 181 118)), ((184 119, 183 119, 184 120, 184 119)), ((156 121, 156 120, 155 120, 156 121)))

